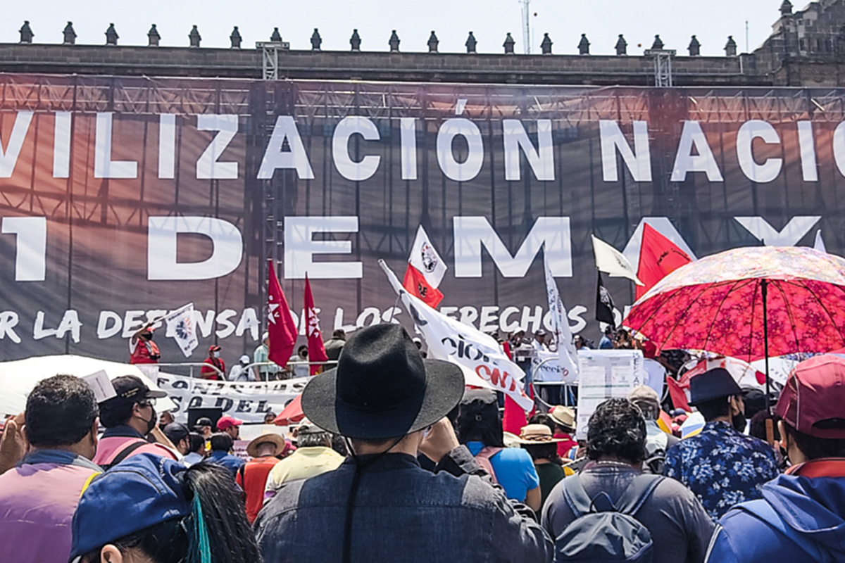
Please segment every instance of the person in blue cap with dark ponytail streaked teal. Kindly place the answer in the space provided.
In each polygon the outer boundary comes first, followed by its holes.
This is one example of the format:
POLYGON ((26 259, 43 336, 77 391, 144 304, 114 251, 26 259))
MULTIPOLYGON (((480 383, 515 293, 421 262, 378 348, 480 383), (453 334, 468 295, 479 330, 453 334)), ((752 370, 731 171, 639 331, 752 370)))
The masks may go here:
POLYGON ((260 563, 226 469, 139 454, 93 479, 74 514, 72 563, 260 563))

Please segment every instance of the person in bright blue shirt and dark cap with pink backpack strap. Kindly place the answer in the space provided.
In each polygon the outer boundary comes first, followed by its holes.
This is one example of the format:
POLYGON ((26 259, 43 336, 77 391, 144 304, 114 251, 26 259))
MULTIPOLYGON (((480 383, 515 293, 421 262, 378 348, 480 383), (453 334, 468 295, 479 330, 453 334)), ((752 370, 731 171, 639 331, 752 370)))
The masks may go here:
POLYGON ((496 393, 471 389, 461 399, 458 413, 458 439, 476 457, 508 498, 525 502, 536 512, 542 495, 540 478, 531 456, 520 448, 504 447, 502 420, 496 393))

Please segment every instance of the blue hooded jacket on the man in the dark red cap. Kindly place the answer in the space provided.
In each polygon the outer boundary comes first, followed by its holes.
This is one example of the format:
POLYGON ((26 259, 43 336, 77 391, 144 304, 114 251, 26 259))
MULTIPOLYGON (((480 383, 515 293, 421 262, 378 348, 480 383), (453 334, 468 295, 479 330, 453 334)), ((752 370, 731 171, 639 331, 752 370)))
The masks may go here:
POLYGON ((725 514, 706 558, 711 563, 843 560, 845 477, 800 475, 779 476, 763 486, 762 500, 743 503, 725 514), (779 522, 766 522, 752 512, 771 512, 770 520, 777 515, 779 522), (791 539, 777 529, 781 526, 802 539, 791 539), (819 547, 828 552, 826 559, 819 547))

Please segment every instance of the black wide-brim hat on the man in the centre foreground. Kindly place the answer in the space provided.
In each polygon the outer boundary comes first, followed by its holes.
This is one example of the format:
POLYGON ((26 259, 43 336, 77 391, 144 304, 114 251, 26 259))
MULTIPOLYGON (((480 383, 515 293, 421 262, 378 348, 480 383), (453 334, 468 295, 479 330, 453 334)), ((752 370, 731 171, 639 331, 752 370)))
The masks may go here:
POLYGON ((303 413, 314 425, 361 440, 423 430, 461 400, 461 368, 423 360, 404 328, 379 324, 353 334, 337 367, 308 382, 303 413))

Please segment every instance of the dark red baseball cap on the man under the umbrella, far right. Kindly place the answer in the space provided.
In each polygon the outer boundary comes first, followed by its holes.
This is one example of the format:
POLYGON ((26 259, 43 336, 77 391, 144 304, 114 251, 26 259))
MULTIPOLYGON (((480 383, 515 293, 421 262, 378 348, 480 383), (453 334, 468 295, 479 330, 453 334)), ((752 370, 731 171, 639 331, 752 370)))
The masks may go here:
POLYGON ((808 436, 845 438, 845 359, 819 355, 796 365, 787 377, 775 413, 808 436))

